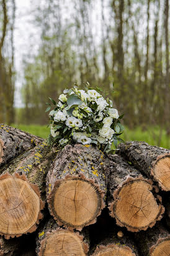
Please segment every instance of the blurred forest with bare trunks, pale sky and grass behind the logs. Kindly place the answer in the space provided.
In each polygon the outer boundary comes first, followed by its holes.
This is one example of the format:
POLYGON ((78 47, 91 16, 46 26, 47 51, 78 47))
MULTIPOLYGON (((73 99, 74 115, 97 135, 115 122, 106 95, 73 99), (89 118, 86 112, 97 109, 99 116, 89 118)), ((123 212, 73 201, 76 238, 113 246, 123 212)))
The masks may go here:
POLYGON ((47 137, 48 97, 86 81, 125 113, 125 140, 169 148, 169 1, 0 0, 0 123, 47 137))

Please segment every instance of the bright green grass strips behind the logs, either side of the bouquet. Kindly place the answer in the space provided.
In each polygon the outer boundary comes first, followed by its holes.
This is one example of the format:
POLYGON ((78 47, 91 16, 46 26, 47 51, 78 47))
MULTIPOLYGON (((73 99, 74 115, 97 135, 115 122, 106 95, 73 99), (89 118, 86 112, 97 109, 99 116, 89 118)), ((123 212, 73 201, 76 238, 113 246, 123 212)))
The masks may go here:
MULTIPOLYGON (((42 138, 47 138, 50 133, 50 128, 46 125, 12 125, 20 130, 27 131, 34 135, 40 136, 42 138)), ((161 146, 163 148, 170 148, 170 136, 166 135, 166 131, 163 130, 160 136, 160 130, 158 126, 148 127, 146 131, 142 131, 141 128, 136 128, 135 130, 129 130, 125 128, 125 132, 121 136, 125 141, 137 140, 146 141, 153 146, 161 146)))

